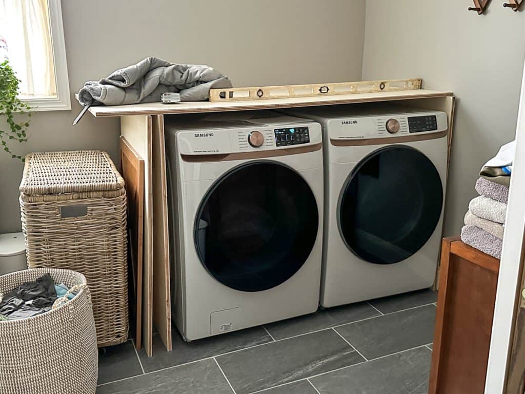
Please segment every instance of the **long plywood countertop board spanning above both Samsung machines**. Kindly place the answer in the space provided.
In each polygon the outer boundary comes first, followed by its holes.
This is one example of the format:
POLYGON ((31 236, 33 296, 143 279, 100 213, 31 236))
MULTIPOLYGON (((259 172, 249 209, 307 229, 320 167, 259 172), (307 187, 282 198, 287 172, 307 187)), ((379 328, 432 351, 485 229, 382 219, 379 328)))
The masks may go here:
POLYGON ((250 100, 232 102, 185 101, 176 104, 149 102, 123 106, 92 106, 89 112, 95 117, 124 115, 167 115, 182 113, 206 113, 224 111, 244 111, 272 108, 297 108, 321 105, 352 104, 359 102, 380 102, 392 100, 412 100, 419 98, 451 97, 450 91, 408 90, 394 92, 362 93, 341 96, 299 97, 271 100, 250 100))

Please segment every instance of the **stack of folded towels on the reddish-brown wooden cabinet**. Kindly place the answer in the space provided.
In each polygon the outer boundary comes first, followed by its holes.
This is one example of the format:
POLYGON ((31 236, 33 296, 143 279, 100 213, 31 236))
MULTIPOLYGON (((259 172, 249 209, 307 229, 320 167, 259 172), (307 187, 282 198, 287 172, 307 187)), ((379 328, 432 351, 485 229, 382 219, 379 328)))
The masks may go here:
POLYGON ((503 145, 481 169, 476 181, 479 196, 470 201, 461 229, 461 241, 496 258, 501 258, 515 150, 516 141, 503 145))

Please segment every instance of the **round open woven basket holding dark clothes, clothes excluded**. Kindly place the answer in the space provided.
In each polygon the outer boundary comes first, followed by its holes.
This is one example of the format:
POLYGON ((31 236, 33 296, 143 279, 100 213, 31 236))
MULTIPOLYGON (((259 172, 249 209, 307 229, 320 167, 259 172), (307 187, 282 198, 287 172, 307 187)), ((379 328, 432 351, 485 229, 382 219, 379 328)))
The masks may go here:
POLYGON ((81 285, 66 304, 41 315, 0 322, 0 394, 95 393, 98 349, 86 277, 66 269, 26 269, 0 276, 0 293, 49 273, 81 285))

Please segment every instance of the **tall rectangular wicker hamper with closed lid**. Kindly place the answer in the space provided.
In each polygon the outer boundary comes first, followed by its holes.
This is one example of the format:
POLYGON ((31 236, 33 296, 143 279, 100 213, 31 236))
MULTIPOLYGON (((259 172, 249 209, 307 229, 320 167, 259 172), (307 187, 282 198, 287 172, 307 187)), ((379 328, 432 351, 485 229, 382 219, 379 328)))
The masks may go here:
POLYGON ((30 153, 20 183, 29 268, 86 276, 99 347, 128 339, 124 180, 106 152, 30 153))

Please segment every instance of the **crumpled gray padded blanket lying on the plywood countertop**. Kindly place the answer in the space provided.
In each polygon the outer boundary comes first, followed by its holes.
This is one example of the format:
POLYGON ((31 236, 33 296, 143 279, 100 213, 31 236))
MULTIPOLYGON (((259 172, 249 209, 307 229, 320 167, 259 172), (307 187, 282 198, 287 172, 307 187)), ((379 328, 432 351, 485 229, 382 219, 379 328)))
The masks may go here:
POLYGON ((203 101, 208 99, 209 89, 230 87, 228 77, 212 67, 146 57, 98 82, 86 82, 78 92, 78 102, 82 106, 153 102, 169 91, 179 92, 182 101, 203 101))

